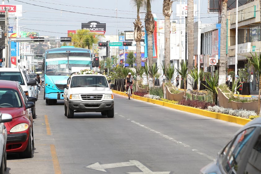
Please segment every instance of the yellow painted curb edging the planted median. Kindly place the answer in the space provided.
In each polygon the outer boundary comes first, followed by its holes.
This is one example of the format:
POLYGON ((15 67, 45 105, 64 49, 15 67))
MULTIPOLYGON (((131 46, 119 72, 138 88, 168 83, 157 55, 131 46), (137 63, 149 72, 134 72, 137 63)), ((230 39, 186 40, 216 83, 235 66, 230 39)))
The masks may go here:
MULTIPOLYGON (((125 94, 125 92, 120 92, 120 91, 115 91, 115 90, 112 90, 112 91, 115 94, 127 96, 127 94, 125 94)), ((211 112, 211 111, 207 111, 207 110, 204 110, 204 109, 198 109, 198 108, 193 108, 193 107, 184 106, 184 105, 172 104, 172 103, 169 103, 169 102, 150 99, 150 98, 136 96, 136 95, 133 95, 132 98, 137 99, 137 100, 150 102, 150 103, 154 103, 154 104, 161 105, 161 106, 166 106, 166 107, 169 107, 169 108, 172 108, 172 109, 178 109, 178 110, 182 110, 182 111, 185 111, 185 112, 199 114, 199 115, 202 115, 202 116, 215 118, 215 119, 219 119, 219 120, 223 120, 223 121, 227 121, 227 122, 231 122, 231 123, 237 123, 237 124, 240 124, 240 125, 245 125, 246 123, 251 121, 251 119, 248 119, 248 118, 236 117, 236 116, 233 116, 233 115, 211 112)))

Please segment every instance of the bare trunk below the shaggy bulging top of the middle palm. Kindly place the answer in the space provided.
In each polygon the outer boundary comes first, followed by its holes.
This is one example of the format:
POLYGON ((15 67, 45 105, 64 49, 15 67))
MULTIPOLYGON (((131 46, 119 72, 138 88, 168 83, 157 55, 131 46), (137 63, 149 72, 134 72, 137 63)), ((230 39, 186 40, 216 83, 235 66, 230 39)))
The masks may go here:
POLYGON ((170 64, 170 16, 165 16, 165 60, 164 63, 168 67, 170 64))

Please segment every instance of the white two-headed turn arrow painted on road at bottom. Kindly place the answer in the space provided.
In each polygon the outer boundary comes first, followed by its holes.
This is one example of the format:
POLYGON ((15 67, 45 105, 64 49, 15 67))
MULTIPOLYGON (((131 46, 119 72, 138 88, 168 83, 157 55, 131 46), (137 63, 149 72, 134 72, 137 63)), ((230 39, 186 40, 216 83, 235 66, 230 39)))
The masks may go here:
POLYGON ((116 167, 127 167, 127 166, 136 166, 142 172, 130 172, 129 174, 169 174, 170 172, 152 172, 142 163, 136 160, 130 160, 129 162, 122 163, 110 163, 110 164, 100 164, 99 162, 86 166, 86 168, 91 168, 94 170, 99 170, 102 172, 107 172, 105 169, 116 168, 116 167))

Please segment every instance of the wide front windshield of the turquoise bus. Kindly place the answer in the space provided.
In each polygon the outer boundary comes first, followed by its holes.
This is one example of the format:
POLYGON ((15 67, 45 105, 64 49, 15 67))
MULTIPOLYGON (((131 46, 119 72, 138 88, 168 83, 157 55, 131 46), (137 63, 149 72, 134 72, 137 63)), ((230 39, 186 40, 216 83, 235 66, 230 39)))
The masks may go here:
POLYGON ((88 52, 46 54, 46 74, 70 74, 81 69, 91 69, 91 54, 88 52))

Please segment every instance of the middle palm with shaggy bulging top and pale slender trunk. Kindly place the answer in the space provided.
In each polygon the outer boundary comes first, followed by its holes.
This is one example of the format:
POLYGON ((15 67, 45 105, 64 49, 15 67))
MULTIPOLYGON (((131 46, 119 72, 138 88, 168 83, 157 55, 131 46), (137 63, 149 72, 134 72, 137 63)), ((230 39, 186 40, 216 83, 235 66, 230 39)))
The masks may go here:
POLYGON ((165 16, 165 65, 170 63, 170 15, 172 13, 173 1, 171 0, 163 0, 163 15, 165 16))

